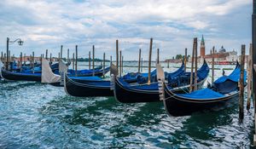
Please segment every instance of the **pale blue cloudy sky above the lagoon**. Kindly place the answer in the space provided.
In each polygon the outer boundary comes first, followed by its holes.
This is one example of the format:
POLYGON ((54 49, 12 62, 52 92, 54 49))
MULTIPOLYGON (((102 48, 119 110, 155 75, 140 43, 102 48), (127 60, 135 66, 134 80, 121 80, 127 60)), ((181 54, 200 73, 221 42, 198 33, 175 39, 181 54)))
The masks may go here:
MULTIPOLYGON (((253 0, 1 0, 0 51, 6 51, 6 37, 21 38, 23 46, 9 45, 11 54, 36 55, 49 50, 54 56, 63 45, 79 57, 88 57, 95 45, 96 57, 115 55, 115 41, 125 60, 137 60, 142 49, 148 59, 153 37, 153 60, 192 53, 193 38, 204 35, 206 53, 212 46, 241 53, 252 39, 253 0)), ((198 53, 200 54, 200 47, 198 53)))

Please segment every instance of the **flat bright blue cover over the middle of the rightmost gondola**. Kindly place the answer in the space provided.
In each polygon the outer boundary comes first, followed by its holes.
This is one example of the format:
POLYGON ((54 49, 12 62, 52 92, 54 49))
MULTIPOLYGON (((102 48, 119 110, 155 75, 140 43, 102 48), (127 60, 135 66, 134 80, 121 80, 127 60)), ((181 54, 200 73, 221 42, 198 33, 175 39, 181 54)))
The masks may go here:
POLYGON ((200 89, 200 90, 191 92, 190 94, 177 94, 177 95, 185 97, 185 98, 203 99, 203 100, 224 97, 224 95, 222 95, 218 92, 215 92, 212 89, 200 89))

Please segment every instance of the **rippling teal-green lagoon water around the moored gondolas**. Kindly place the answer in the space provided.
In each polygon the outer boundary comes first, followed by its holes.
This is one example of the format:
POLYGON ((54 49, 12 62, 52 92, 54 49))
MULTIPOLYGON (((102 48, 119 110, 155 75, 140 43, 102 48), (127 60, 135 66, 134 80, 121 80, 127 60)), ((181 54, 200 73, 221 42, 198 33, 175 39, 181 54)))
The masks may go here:
MULTIPOLYGON (((216 77, 221 74, 216 71, 216 77)), ((1 82, 0 87, 0 148, 249 148, 252 144, 253 109, 239 123, 237 102, 211 112, 169 117, 161 102, 76 98, 63 88, 41 83, 1 82)))

